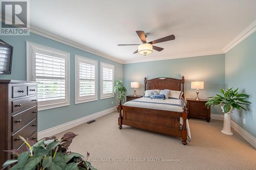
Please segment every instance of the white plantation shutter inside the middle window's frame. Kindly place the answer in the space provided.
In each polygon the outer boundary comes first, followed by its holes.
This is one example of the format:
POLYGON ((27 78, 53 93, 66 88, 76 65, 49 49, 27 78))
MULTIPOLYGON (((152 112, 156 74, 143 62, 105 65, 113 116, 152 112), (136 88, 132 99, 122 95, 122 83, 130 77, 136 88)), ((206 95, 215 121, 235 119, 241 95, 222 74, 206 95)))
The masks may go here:
POLYGON ((79 62, 79 96, 95 95, 95 65, 79 62))

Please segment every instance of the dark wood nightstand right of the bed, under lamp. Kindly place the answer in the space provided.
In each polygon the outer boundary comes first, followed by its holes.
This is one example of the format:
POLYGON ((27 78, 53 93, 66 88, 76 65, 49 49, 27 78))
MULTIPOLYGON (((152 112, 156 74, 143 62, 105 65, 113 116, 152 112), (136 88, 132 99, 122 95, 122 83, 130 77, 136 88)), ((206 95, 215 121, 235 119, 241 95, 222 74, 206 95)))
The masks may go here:
POLYGON ((205 103, 208 100, 200 99, 196 101, 195 99, 186 99, 187 109, 188 109, 188 118, 204 118, 207 122, 210 122, 210 108, 207 109, 205 103))

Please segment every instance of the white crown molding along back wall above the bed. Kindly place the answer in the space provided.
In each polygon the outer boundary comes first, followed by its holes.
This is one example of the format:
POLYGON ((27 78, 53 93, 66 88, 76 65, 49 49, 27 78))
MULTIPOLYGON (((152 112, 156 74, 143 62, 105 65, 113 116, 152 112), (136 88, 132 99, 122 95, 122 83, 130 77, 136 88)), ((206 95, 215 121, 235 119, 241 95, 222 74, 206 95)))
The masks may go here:
MULTIPOLYGON (((181 59, 181 58, 189 58, 189 57, 201 57, 201 56, 210 56, 210 55, 217 55, 217 54, 224 54, 224 52, 216 52, 216 53, 207 53, 207 54, 195 54, 195 55, 184 55, 184 56, 175 56, 172 58, 169 57, 159 57, 159 58, 146 58, 145 59, 138 59, 133 61, 124 61, 123 64, 132 64, 132 63, 142 63, 142 62, 148 62, 148 61, 161 61, 161 60, 172 60, 172 59, 181 59)), ((143 56, 141 56, 143 57, 143 56)))

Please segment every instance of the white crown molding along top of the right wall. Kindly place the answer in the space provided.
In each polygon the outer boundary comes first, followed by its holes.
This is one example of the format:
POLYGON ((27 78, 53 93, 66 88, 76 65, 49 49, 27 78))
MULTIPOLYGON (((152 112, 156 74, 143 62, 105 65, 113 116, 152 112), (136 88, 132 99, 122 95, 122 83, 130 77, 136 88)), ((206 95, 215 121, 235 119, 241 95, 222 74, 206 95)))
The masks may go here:
POLYGON ((250 36, 252 33, 256 31, 256 20, 254 20, 242 33, 240 33, 236 38, 234 38, 232 41, 230 41, 224 48, 224 53, 227 53, 229 50, 231 50, 234 46, 239 44, 241 41, 243 41, 245 38, 250 36))

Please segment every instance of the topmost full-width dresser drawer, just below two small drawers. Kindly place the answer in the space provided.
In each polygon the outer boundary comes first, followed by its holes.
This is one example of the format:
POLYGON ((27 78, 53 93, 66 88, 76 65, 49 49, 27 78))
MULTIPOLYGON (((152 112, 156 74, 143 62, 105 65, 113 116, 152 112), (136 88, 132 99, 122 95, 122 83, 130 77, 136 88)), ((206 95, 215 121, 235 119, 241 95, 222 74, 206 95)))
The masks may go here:
POLYGON ((36 103, 37 103, 37 96, 32 96, 30 98, 12 101, 12 112, 16 112, 16 111, 22 110, 26 107, 36 105, 36 103))

